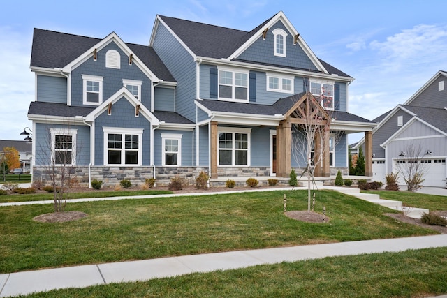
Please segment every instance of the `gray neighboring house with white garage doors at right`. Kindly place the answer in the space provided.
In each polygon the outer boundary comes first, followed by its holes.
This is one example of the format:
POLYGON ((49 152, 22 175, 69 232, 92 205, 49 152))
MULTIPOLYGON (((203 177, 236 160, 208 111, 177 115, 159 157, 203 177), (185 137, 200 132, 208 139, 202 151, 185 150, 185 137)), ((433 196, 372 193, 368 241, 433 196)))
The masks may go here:
MULTIPOLYGON (((387 173, 399 172, 399 166, 417 157, 425 164, 423 186, 446 187, 446 82, 447 73, 439 71, 403 105, 373 120, 378 123, 372 133, 374 180, 384 182, 387 173), (411 148, 416 149, 413 156, 411 148)), ((364 140, 356 144, 359 146, 364 146, 364 140)), ((399 184, 404 184, 402 177, 399 184)))

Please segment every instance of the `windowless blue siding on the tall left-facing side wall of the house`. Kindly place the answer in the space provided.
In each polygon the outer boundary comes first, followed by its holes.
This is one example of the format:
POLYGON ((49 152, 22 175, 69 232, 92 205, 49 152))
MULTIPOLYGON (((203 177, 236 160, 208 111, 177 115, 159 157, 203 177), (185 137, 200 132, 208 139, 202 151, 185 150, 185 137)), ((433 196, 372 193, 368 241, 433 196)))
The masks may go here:
POLYGON ((191 121, 196 120, 196 62, 182 45, 159 23, 154 43, 154 50, 177 80, 176 112, 191 121))

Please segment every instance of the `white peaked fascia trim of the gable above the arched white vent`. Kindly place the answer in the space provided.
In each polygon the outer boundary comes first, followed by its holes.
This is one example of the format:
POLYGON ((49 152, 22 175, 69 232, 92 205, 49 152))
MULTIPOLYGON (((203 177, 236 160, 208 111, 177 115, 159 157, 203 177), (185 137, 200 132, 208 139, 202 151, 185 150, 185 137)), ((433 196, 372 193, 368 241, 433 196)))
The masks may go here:
MULTIPOLYGON (((112 32, 108 36, 106 36, 103 40, 101 40, 99 43, 96 43, 93 47, 89 48, 89 50, 85 51, 83 54, 81 54, 78 58, 73 60, 70 64, 67 64, 62 68, 64 70, 64 73, 71 73, 71 71, 78 66, 80 66, 82 63, 87 61, 92 55, 93 51, 96 49, 96 51, 102 50, 104 47, 106 47, 109 43, 112 43, 114 41, 118 47, 124 52, 124 54, 127 55, 127 57, 130 56, 130 54, 133 54, 132 50, 124 43, 124 41, 117 36, 117 33, 112 32)), ((159 78, 152 73, 152 71, 147 68, 147 66, 142 63, 142 61, 133 54, 133 63, 135 63, 147 77, 149 77, 152 82, 159 82, 159 78)))

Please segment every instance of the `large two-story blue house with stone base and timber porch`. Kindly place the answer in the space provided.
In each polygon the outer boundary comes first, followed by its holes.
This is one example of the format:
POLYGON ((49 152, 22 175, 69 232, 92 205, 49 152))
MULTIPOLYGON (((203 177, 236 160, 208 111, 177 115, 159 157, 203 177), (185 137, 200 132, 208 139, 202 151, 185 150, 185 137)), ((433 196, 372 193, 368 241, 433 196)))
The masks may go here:
POLYGON ((282 12, 249 32, 157 15, 148 46, 34 29, 31 71, 35 177, 49 152, 84 182, 288 177, 306 165, 291 142, 309 91, 332 119, 316 171, 330 177, 347 174, 349 133, 371 140, 376 125, 347 112, 353 78, 318 59, 282 12))

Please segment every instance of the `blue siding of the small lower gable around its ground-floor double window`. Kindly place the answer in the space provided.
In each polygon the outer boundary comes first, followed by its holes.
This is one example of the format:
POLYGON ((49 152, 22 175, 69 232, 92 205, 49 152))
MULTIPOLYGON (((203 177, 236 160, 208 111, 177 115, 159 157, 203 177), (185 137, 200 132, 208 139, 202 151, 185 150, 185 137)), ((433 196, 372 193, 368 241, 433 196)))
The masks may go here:
POLYGON ((151 165, 149 121, 140 114, 135 117, 135 107, 125 98, 121 98, 112 105, 112 114, 107 110, 96 117, 95 121, 95 165, 104 165, 104 132, 103 127, 143 128, 142 135, 142 165, 151 165))

